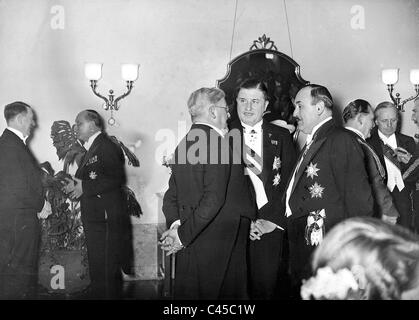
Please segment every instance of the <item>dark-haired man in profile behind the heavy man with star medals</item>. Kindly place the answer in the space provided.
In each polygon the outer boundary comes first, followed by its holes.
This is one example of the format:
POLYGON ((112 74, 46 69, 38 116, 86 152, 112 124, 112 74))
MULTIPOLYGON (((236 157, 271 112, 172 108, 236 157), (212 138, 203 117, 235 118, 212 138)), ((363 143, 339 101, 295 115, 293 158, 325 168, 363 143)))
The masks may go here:
POLYGON ((342 113, 345 128, 348 129, 362 147, 365 155, 365 167, 374 195, 374 216, 391 224, 396 224, 399 213, 393 198, 384 183, 385 168, 372 147, 365 141, 371 136, 374 127, 374 111, 371 105, 362 99, 350 102, 342 113))

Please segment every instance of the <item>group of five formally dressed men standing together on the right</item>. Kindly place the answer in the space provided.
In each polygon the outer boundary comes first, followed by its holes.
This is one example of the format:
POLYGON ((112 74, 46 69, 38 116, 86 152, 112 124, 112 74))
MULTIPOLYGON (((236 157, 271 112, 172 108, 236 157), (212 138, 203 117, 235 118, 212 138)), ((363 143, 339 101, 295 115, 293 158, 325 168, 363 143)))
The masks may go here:
POLYGON ((160 239, 176 253, 176 299, 298 299, 311 254, 340 221, 374 216, 413 228, 419 160, 393 104, 354 100, 339 126, 328 89, 301 88, 294 117, 307 139, 297 158, 290 132, 263 119, 263 82, 248 79, 237 92, 229 125, 220 89, 188 100, 193 125, 172 159, 160 239))

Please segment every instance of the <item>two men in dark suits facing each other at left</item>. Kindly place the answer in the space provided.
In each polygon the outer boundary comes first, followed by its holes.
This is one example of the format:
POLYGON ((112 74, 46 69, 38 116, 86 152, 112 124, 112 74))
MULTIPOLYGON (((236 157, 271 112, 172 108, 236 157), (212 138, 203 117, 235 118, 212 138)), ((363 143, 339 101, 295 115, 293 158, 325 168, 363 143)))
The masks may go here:
MULTIPOLYGON (((0 136, 0 299, 36 299, 40 224, 51 213, 42 170, 27 146, 36 126, 24 102, 4 108, 0 136)), ((118 298, 122 289, 122 237, 126 223, 124 155, 104 132, 94 110, 77 115, 75 134, 86 150, 63 191, 81 202, 91 285, 85 298, 118 298)))

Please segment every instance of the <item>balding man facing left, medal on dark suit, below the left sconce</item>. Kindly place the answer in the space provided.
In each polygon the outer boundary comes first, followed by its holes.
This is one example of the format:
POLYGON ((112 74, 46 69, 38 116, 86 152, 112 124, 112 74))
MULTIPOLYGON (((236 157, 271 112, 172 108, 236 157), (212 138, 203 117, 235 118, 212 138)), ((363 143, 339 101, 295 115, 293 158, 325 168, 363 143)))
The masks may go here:
POLYGON ((94 110, 77 115, 75 132, 87 152, 74 179, 67 179, 64 190, 81 202, 90 298, 120 298, 123 230, 129 219, 122 189, 126 182, 124 155, 104 132, 104 121, 94 110))

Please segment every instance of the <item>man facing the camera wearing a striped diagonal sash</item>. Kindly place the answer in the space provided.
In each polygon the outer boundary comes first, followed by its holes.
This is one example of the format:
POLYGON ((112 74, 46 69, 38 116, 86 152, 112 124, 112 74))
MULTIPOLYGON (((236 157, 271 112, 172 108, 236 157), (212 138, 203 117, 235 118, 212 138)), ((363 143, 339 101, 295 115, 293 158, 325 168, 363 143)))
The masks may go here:
POLYGON ((240 130, 243 136, 242 157, 258 207, 250 230, 250 296, 270 300, 278 298, 278 291, 284 286, 278 283, 284 269, 282 248, 286 227, 282 197, 296 152, 287 129, 262 119, 269 103, 267 97, 262 81, 245 80, 236 99, 239 119, 232 122, 231 128, 240 130))

